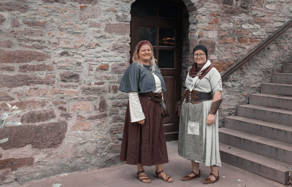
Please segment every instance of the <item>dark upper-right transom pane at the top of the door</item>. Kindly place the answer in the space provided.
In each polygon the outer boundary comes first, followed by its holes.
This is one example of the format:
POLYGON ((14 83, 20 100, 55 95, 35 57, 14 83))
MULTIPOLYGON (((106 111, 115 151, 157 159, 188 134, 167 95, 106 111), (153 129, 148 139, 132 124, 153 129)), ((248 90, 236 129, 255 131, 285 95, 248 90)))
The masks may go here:
POLYGON ((180 13, 179 13, 179 4, 176 4, 172 1, 158 1, 158 11, 159 11, 159 17, 160 18, 175 18, 179 19, 180 13))

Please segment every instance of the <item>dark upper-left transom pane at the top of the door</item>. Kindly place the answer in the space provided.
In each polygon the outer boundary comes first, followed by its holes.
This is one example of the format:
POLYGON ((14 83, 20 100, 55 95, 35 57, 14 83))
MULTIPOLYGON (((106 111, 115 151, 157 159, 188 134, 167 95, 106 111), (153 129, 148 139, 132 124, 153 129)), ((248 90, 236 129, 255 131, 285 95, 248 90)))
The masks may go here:
POLYGON ((132 15, 144 15, 155 17, 155 1, 154 0, 136 0, 132 4, 132 15))

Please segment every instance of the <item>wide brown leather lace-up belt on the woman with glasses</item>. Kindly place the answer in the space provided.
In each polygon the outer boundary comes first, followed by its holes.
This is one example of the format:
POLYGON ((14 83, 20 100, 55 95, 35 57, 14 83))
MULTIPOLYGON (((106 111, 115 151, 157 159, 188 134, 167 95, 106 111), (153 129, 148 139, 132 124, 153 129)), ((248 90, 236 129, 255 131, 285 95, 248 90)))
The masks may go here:
POLYGON ((189 89, 187 89, 185 93, 182 95, 182 97, 183 97, 183 100, 185 98, 186 103, 197 104, 204 101, 213 100, 213 93, 212 92, 201 93, 199 91, 195 91, 195 90, 190 91, 189 89))

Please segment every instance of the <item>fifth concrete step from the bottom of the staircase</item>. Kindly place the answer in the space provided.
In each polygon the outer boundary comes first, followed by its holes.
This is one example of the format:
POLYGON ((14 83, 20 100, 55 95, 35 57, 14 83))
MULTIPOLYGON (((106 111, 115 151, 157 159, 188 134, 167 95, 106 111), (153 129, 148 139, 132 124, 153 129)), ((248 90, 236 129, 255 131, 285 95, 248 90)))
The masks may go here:
POLYGON ((255 93, 249 95, 249 104, 292 110, 292 97, 255 93))

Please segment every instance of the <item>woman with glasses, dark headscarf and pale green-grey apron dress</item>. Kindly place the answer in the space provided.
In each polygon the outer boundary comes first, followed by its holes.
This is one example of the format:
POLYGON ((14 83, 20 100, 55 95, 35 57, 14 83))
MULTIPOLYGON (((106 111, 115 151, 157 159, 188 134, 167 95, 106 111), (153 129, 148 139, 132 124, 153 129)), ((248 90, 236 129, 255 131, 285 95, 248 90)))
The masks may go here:
POLYGON ((183 94, 178 134, 178 154, 192 162, 192 172, 182 178, 199 178, 199 163, 210 166, 211 174, 204 180, 210 184, 219 180, 221 167, 218 141, 218 108, 222 102, 221 76, 210 60, 204 45, 193 50, 195 63, 187 75, 183 94))

